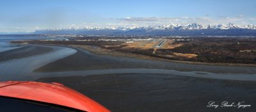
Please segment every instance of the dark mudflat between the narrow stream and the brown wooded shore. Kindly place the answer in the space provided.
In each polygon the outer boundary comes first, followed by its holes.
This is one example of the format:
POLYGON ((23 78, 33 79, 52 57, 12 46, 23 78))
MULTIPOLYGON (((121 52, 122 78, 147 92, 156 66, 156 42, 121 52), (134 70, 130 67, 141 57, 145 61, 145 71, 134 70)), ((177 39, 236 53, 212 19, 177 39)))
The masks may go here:
MULTIPOLYGON (((60 45, 59 45, 60 46, 60 45)), ((62 46, 63 47, 63 46, 62 46)), ((67 47, 67 46, 65 46, 67 47)), ((115 56, 84 51, 77 47, 76 54, 56 60, 34 72, 65 72, 76 70, 97 70, 97 69, 115 69, 115 68, 156 68, 166 70, 177 70, 180 72, 211 72, 216 74, 256 74, 255 67, 241 66, 217 66, 217 65, 200 65, 193 63, 178 63, 173 61, 148 60, 147 58, 134 58, 133 56, 115 56)), ((92 49, 93 50, 93 49, 92 49)), ((99 52, 99 50, 95 50, 99 52)), ((142 56, 145 57, 145 56, 142 56)))

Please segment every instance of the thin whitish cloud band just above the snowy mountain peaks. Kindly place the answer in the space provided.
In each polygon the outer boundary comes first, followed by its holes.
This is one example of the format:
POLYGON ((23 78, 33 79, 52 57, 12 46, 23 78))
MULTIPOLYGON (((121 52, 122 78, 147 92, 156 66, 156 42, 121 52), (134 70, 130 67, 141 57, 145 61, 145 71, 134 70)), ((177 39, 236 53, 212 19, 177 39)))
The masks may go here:
POLYGON ((255 18, 246 19, 244 15, 237 15, 237 17, 219 16, 216 18, 210 17, 125 17, 118 19, 105 19, 112 22, 112 24, 124 24, 130 26, 136 24, 137 26, 156 26, 164 24, 228 24, 229 22, 238 24, 240 26, 252 23, 255 18))

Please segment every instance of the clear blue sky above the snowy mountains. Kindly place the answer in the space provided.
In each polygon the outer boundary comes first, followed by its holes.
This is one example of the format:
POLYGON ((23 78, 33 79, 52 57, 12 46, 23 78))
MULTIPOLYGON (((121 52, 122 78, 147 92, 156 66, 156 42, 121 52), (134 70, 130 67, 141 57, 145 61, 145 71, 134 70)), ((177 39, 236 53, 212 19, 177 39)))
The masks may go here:
POLYGON ((256 24, 255 0, 1 0, 0 32, 84 26, 256 24))

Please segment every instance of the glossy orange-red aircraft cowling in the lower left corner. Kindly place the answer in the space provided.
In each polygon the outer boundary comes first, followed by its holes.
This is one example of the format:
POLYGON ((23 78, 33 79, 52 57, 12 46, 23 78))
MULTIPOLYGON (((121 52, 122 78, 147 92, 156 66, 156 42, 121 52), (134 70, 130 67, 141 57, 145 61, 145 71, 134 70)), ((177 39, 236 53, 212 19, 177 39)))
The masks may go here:
POLYGON ((89 112, 109 111, 94 100, 59 83, 38 83, 31 81, 1 82, 0 95, 58 104, 89 112))

